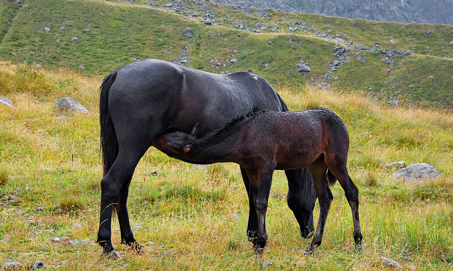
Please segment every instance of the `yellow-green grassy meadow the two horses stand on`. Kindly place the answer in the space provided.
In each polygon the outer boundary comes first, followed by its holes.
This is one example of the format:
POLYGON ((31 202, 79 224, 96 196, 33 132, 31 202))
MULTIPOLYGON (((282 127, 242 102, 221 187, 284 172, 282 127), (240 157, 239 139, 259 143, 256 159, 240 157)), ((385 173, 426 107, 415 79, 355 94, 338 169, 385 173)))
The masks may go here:
MULTIPOLYGON (((258 270, 264 260, 270 260, 273 265, 268 268, 279 270, 361 270, 363 263, 374 264, 367 270, 381 270, 385 266, 379 257, 390 257, 405 268, 451 269, 453 116, 383 108, 364 95, 337 88, 301 89, 288 84, 274 87, 291 110, 329 108, 349 129, 348 167, 360 191, 363 253, 352 250, 350 209, 336 185, 323 244, 314 256, 303 256, 310 240, 299 236, 286 205, 284 173, 277 171, 266 221, 268 249, 262 259, 255 259, 244 234, 248 201, 238 166, 192 169, 152 148, 137 166, 128 206, 135 237, 142 244, 152 243, 145 245, 143 255, 128 252, 119 244, 114 219, 113 241, 123 259, 100 258, 100 247, 92 244, 99 223, 102 177, 100 79, 29 65, 0 65, 0 97, 14 102, 14 108, 0 106, 3 262, 19 261, 29 268, 42 260, 47 267, 59 265, 54 267, 58 270, 258 270), (90 113, 56 119, 53 101, 67 96, 90 113), (427 162, 441 177, 426 183, 398 182, 385 169, 386 163, 398 160, 427 162), (90 242, 71 247, 47 240, 53 236, 89 238, 90 242)), ((317 206, 315 217, 318 210, 317 206)))

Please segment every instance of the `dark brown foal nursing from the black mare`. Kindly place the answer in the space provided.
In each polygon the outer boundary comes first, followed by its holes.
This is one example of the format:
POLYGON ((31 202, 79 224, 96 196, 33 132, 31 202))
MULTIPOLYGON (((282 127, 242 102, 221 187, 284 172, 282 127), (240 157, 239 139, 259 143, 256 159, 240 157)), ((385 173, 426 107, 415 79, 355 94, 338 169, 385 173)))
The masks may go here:
POLYGON ((235 162, 246 170, 250 194, 258 215, 255 254, 261 254, 267 242, 265 216, 276 169, 308 167, 318 193, 320 214, 311 254, 321 244, 324 226, 333 200, 330 186, 338 180, 352 210, 353 236, 360 249, 362 233, 358 214, 358 189, 349 177, 346 162, 349 134, 343 121, 327 109, 297 112, 251 113, 197 137, 197 124, 191 134, 173 132, 155 140, 165 152, 190 156, 197 162, 235 162))

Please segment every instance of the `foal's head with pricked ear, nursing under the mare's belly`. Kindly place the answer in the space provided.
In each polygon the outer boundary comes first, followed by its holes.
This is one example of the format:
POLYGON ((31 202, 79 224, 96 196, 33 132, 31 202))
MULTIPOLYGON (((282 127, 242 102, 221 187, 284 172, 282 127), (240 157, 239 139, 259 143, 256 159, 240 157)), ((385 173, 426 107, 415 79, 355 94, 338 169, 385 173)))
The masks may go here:
POLYGON ((201 124, 199 123, 195 125, 190 134, 177 131, 160 136, 157 140, 159 145, 162 146, 161 150, 178 154, 190 153, 192 143, 196 141, 196 134, 200 126, 201 124))

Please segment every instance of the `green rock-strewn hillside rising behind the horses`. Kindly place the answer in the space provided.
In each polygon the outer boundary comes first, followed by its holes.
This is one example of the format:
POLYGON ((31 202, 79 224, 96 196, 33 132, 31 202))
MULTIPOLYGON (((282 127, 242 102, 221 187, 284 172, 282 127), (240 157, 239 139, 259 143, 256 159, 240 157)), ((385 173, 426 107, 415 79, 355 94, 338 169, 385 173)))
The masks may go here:
POLYGON ((332 80, 333 84, 353 86, 355 91, 368 92, 383 103, 387 102, 385 97, 392 97, 400 104, 453 105, 453 46, 449 45, 453 40, 452 26, 379 23, 273 10, 244 12, 192 1, 173 2, 173 7, 177 4, 180 8, 176 12, 163 7, 168 2, 161 0, 124 4, 103 0, 23 2, 1 2, 2 13, 11 17, 7 20, 12 24, 2 25, 8 32, 0 44, 0 58, 15 63, 35 61, 54 70, 77 70, 82 65, 82 74, 97 76, 135 59, 178 59, 187 44, 190 62, 186 66, 214 72, 251 69, 271 83, 297 86, 324 81, 328 62, 336 59, 332 49, 337 42, 333 38, 338 34, 354 44, 410 50, 415 56, 395 56, 396 65, 391 67, 384 63, 381 53, 359 51, 340 43, 351 50, 351 56, 349 62, 332 73, 332 78, 338 77, 332 80), (193 13, 198 17, 189 18, 193 13), (215 15, 216 23, 222 25, 200 22, 205 14, 215 15), (304 32, 295 22, 311 26, 304 32), (238 24, 263 33, 236 29, 238 24), (50 27, 49 33, 44 31, 46 26, 50 27), (289 27, 299 30, 290 31, 289 27), (182 35, 185 28, 192 29, 192 39, 182 35), (85 29, 91 33, 85 33, 85 29), (323 32, 329 39, 312 37, 323 32), (79 39, 72 41, 72 36, 79 39), (395 42, 390 43, 390 39, 395 42), (269 45, 269 41, 273 44, 269 45), (365 54, 367 61, 356 60, 356 53, 365 54), (232 58, 237 58, 238 63, 230 65, 227 60, 232 58), (296 72, 294 67, 300 60, 308 61, 312 71, 296 72), (212 67, 219 61, 219 67, 212 67), (269 63, 268 67, 265 63, 269 63))

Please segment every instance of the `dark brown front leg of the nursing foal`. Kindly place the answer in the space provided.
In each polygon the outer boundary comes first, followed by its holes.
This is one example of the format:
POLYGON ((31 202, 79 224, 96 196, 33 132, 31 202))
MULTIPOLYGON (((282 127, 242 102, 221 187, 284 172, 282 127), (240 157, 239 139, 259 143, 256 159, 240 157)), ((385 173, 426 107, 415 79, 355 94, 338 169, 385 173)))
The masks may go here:
POLYGON ((274 169, 275 167, 259 169, 256 173, 247 171, 250 180, 250 192, 258 218, 258 232, 254 243, 255 256, 261 256, 267 243, 266 212, 274 169))

